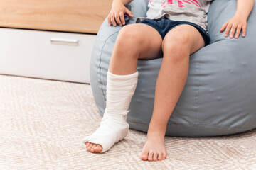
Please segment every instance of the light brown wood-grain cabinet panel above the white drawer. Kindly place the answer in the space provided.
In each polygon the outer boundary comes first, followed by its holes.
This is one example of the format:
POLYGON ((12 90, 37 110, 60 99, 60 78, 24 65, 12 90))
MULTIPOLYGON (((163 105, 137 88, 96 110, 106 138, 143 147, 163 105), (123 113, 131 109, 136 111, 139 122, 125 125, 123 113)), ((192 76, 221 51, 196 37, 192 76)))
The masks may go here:
POLYGON ((0 0, 0 26, 97 33, 112 0, 0 0))

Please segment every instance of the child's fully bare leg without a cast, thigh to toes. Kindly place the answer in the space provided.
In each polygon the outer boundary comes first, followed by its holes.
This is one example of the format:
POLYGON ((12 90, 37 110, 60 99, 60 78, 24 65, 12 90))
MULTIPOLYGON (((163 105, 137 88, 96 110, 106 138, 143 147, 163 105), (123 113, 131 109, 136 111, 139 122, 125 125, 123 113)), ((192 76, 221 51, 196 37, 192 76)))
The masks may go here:
POLYGON ((166 125, 186 83, 189 55, 203 46, 201 34, 190 25, 176 26, 166 34, 162 42, 164 57, 156 81, 154 111, 142 150, 143 160, 166 157, 166 125))

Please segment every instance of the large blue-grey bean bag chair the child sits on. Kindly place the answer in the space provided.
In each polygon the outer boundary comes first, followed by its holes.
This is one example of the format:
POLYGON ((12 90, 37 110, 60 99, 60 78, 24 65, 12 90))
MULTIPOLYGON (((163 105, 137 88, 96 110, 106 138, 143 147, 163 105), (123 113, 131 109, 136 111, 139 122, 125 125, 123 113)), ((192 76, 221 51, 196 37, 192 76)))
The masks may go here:
MULTIPOLYGON (((169 119, 166 135, 203 137, 230 135, 256 128, 256 9, 247 21, 245 38, 230 39, 220 27, 233 18, 236 0, 215 0, 208 12, 210 45, 190 58, 188 79, 169 119)), ((148 0, 134 0, 132 18, 146 16, 148 0)), ((92 92, 100 115, 105 112, 107 69, 121 26, 107 18, 97 33, 90 62, 92 92)), ((147 132, 154 106, 156 79, 162 58, 139 60, 137 89, 129 106, 131 129, 147 132)))

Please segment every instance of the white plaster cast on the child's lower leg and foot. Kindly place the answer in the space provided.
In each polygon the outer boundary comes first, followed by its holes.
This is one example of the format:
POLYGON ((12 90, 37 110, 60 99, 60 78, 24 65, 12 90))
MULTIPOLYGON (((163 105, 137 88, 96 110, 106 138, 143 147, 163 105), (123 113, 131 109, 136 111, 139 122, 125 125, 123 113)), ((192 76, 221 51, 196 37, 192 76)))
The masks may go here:
POLYGON ((101 145, 102 151, 100 152, 106 152, 114 143, 127 136, 129 130, 127 113, 137 86, 138 75, 138 72, 129 75, 107 72, 107 106, 100 122, 100 128, 97 128, 92 135, 84 137, 83 143, 101 145))

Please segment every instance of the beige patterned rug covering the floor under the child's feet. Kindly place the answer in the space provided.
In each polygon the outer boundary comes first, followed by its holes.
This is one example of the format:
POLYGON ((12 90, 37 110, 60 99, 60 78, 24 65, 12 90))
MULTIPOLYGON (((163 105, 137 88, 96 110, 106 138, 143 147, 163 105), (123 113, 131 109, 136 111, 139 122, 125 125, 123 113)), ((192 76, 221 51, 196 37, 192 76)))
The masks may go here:
POLYGON ((144 162, 136 130, 109 152, 87 152, 82 137, 100 120, 88 84, 0 75, 0 169, 256 169, 256 130, 166 137, 167 159, 144 162))

